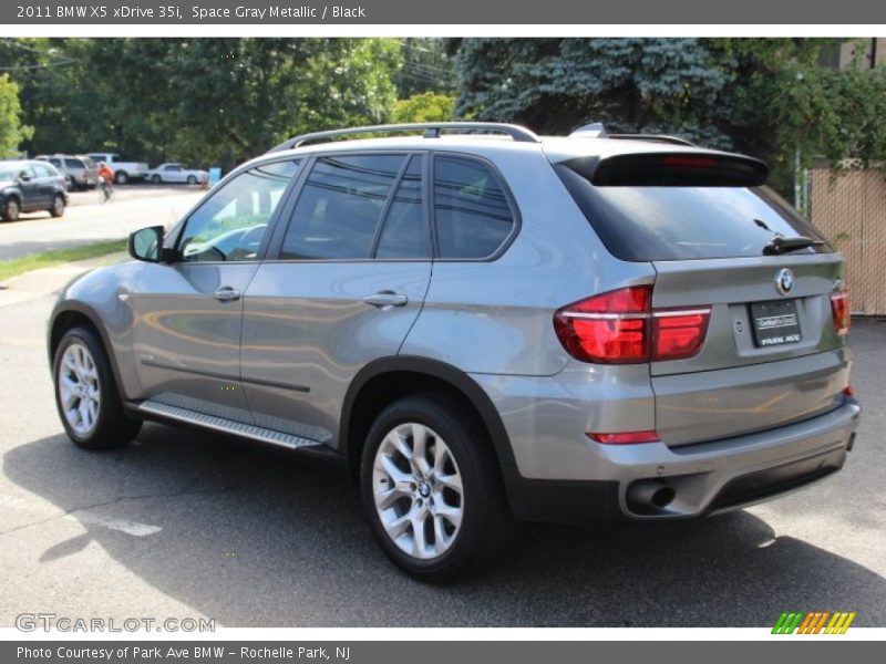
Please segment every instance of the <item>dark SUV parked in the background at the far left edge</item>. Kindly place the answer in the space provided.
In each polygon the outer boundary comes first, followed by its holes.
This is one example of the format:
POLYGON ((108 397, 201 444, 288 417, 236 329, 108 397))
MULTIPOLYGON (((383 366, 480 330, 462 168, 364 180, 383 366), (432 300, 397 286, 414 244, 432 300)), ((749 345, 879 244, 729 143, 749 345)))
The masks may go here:
POLYGON ((0 162, 0 219, 16 221, 21 212, 45 210, 64 215, 68 191, 64 177, 45 162, 0 162))

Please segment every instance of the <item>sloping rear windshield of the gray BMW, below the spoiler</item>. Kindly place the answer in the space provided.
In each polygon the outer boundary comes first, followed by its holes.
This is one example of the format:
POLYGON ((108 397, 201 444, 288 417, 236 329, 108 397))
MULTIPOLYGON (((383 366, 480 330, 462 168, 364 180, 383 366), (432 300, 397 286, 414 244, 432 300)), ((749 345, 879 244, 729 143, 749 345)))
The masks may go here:
MULTIPOLYGON (((674 184, 591 185, 569 164, 555 164, 566 188, 606 248, 628 261, 762 256, 776 235, 824 238, 767 187, 674 184)), ((580 168, 579 168, 580 170, 580 168)), ((662 180, 663 181, 663 180, 662 180)), ((715 183, 719 184, 719 183, 715 183)), ((825 245, 794 255, 827 252, 825 245)))

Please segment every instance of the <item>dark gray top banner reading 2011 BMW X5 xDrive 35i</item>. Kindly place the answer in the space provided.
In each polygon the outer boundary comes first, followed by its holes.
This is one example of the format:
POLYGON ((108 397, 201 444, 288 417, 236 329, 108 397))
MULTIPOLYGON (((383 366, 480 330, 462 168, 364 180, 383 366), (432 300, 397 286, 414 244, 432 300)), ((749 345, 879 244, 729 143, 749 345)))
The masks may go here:
POLYGON ((886 2, 839 0, 34 0, 3 2, 0 22, 71 24, 883 24, 886 2))

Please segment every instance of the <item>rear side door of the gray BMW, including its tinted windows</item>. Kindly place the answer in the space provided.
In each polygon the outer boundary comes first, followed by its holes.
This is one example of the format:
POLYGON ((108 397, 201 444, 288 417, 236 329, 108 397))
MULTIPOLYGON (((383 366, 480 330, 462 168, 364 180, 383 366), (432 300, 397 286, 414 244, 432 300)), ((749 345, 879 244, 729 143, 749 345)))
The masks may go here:
POLYGON ((396 355, 431 279, 422 154, 321 155, 244 302, 259 426, 334 440, 356 373, 396 355))

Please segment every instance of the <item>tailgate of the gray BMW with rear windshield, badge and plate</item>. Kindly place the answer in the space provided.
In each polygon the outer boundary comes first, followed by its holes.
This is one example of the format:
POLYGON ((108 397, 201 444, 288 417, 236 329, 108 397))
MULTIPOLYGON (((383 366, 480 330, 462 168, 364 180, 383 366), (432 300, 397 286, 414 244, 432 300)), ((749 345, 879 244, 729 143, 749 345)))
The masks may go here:
MULTIPOLYGON (((842 257, 753 177, 707 174, 728 168, 717 157, 646 156, 642 166, 608 179, 557 169, 609 251, 653 266, 657 329, 705 319, 697 354, 650 363, 662 440, 724 438, 837 407, 849 372, 835 315, 847 307, 842 257), (776 250, 801 237, 812 243, 776 250)), ((683 332, 660 335, 677 347, 683 332)))

